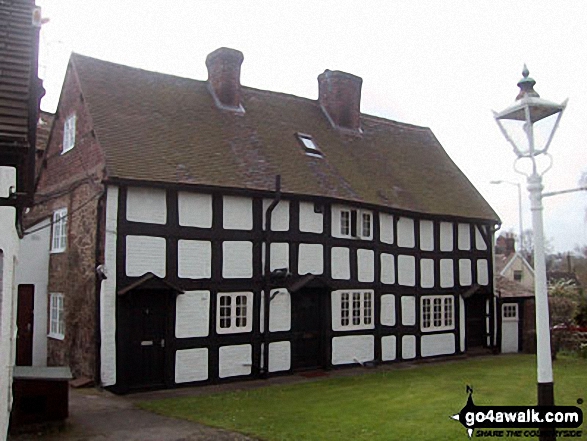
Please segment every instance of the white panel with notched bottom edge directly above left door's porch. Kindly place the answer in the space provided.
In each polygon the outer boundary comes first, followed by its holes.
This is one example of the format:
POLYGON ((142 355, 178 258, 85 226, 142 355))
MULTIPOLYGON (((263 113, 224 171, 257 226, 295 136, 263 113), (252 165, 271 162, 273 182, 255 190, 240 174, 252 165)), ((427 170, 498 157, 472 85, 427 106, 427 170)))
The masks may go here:
POLYGON ((142 276, 151 272, 165 277, 166 242, 163 237, 126 236, 126 275, 142 276))

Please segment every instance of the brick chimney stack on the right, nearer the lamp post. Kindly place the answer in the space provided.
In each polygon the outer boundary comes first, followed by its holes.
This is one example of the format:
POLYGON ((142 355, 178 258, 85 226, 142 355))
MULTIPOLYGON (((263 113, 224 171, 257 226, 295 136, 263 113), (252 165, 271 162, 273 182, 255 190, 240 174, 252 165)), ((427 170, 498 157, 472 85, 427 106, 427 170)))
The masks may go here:
POLYGON ((336 70, 318 76, 318 102, 332 125, 361 130, 362 84, 362 78, 336 70))

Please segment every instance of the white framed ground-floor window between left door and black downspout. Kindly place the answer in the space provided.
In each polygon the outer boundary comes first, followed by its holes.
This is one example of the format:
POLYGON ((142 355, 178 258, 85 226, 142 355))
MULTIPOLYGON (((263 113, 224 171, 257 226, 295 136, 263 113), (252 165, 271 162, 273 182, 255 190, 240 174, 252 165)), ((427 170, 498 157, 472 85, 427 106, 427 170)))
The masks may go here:
POLYGON ((252 329, 253 293, 218 293, 216 332, 231 334, 252 329))

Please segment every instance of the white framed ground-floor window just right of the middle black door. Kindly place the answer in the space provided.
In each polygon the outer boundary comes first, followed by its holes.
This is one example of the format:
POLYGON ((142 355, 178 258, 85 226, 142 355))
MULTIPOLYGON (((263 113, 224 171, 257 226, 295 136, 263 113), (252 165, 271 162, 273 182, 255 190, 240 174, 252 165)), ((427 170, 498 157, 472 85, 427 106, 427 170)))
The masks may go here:
POLYGON ((372 329, 373 290, 334 291, 334 330, 372 329), (335 316, 336 314, 336 316, 335 316))

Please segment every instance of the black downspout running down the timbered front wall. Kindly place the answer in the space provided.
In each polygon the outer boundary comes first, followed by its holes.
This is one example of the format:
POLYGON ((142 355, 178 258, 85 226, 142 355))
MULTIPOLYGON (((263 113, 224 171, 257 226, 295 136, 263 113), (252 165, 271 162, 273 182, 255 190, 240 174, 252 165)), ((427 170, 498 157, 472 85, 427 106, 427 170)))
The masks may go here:
POLYGON ((270 277, 271 277, 271 216, 273 210, 281 200, 281 175, 275 175, 275 196, 273 201, 265 211, 265 231, 263 232, 263 242, 265 244, 265 268, 263 270, 263 377, 267 378, 269 373, 269 305, 270 298, 270 277))

